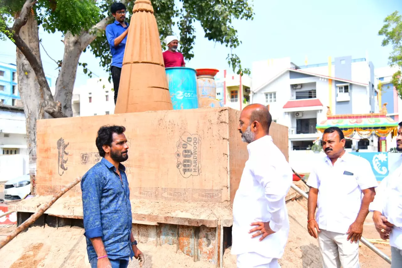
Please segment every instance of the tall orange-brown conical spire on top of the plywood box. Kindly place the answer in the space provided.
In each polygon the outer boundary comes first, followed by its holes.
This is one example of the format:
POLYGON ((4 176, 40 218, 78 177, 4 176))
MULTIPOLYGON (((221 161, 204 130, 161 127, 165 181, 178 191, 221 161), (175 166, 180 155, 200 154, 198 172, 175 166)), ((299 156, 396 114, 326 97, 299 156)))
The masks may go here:
POLYGON ((172 109, 154 8, 150 0, 136 0, 115 113, 172 109))

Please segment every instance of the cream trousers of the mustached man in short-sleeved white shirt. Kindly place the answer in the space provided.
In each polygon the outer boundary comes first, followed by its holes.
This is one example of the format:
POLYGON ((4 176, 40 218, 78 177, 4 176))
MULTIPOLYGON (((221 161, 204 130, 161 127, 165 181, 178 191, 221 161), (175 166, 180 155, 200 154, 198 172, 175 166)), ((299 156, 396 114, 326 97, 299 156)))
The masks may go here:
POLYGON ((318 246, 323 268, 360 268, 359 243, 351 243, 347 237, 347 234, 320 229, 318 246))

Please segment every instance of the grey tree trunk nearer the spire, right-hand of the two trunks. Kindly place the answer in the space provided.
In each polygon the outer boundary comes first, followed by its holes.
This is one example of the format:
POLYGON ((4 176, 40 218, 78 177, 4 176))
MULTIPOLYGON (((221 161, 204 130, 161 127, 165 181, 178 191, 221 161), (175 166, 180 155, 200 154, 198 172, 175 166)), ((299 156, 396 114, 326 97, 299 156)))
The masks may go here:
POLYGON ((64 37, 62 68, 57 78, 54 96, 55 101, 62 103, 62 113, 68 117, 73 115, 71 99, 77 76, 78 60, 83 50, 80 38, 68 32, 64 37))

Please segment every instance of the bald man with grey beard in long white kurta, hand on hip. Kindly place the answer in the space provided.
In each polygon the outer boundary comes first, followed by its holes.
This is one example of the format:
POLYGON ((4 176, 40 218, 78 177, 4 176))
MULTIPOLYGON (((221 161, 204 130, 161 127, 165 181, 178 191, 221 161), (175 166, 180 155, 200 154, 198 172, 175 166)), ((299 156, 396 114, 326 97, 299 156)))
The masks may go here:
POLYGON ((292 169, 269 136, 272 117, 267 107, 248 105, 239 121, 248 161, 233 202, 231 251, 238 268, 281 267, 278 259, 289 235, 285 196, 292 169))

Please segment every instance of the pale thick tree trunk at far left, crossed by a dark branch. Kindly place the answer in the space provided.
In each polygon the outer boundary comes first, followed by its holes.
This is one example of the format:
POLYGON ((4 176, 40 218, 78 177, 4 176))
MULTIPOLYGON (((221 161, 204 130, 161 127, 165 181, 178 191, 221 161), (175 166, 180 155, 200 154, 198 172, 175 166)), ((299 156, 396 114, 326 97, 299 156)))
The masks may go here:
MULTIPOLYGON (((39 52, 38 23, 30 13, 27 23, 19 32, 21 39, 28 45, 29 49, 41 62, 39 52)), ((41 97, 41 90, 35 72, 21 50, 16 49, 18 91, 21 96, 25 112, 27 128, 27 147, 29 154, 29 175, 31 177, 31 194, 36 189, 36 120, 45 116, 45 100, 41 97)))

